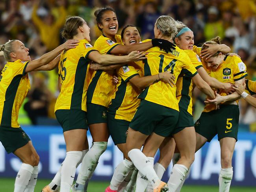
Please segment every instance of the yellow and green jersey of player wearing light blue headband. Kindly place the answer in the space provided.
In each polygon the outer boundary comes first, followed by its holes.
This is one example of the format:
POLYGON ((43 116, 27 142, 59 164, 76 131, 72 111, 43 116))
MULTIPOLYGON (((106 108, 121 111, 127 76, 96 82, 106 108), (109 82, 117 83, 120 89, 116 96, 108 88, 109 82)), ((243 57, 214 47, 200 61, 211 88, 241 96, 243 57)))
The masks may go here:
MULTIPOLYGON (((199 56, 192 50, 184 50, 189 56, 192 64, 196 69, 202 67, 201 60, 199 56)), ((178 76, 176 82, 176 98, 179 102, 179 107, 187 110, 188 113, 192 115, 192 90, 193 90, 193 81, 190 76, 181 73, 178 76)))

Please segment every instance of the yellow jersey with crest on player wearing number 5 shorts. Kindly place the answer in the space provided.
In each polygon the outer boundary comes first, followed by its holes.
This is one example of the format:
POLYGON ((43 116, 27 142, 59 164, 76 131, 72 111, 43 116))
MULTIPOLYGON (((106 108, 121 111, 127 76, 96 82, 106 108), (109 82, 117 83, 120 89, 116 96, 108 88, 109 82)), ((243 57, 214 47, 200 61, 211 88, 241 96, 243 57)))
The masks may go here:
MULTIPOLYGON (((246 65, 237 56, 226 55, 224 61, 216 71, 210 70, 209 75, 220 82, 235 84, 235 81, 245 78, 248 74, 246 72, 246 65)), ((221 96, 226 96, 226 93, 219 92, 221 96)), ((236 101, 238 103, 238 100, 236 101)), ((215 109, 214 104, 207 104, 203 112, 209 112, 215 109)))

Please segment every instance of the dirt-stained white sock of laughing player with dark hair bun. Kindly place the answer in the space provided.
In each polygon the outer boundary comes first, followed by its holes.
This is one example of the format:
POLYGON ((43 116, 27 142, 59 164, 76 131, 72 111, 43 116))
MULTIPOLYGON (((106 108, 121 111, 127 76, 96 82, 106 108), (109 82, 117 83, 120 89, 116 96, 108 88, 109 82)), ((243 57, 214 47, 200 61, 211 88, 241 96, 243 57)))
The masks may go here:
MULTIPOLYGON (((91 146, 91 149, 83 157, 75 186, 85 186, 86 181, 91 179, 98 164, 98 160, 100 159, 100 155, 106 151, 107 146, 108 142, 93 142, 93 146, 91 146)), ((85 190, 87 190, 87 186, 85 190)))

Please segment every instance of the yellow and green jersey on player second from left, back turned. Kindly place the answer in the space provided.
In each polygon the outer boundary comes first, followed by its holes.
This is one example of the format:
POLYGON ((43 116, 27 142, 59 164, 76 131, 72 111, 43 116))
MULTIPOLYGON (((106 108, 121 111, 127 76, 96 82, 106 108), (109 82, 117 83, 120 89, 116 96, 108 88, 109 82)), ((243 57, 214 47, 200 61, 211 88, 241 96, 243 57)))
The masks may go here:
POLYGON ((96 51, 91 44, 83 39, 74 49, 61 53, 59 61, 59 75, 61 79, 61 92, 55 104, 58 109, 86 109, 86 92, 91 79, 89 73, 90 52, 96 51))

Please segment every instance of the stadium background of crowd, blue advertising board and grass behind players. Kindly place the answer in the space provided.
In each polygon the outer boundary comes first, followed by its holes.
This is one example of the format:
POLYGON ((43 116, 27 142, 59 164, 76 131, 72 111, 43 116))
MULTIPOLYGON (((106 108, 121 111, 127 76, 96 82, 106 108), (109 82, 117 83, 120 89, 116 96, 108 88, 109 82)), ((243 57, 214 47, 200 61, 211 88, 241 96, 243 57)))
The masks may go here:
MULTIPOLYGON (((194 31, 195 45, 220 36, 247 65, 248 79, 256 80, 256 0, 1 0, 0 44, 19 39, 30 49, 32 59, 65 41, 61 28, 68 15, 83 17, 91 28, 91 44, 100 35, 95 26, 95 7, 111 6, 117 12, 119 32, 126 24, 139 27, 142 39, 153 38, 154 22, 160 15, 181 20, 194 31)), ((0 70, 6 61, 0 57, 0 70)), ((46 185, 65 157, 62 129, 54 116, 58 96, 57 70, 31 72, 32 89, 20 109, 19 122, 32 138, 41 157, 35 191, 46 185)), ((194 117, 200 116, 204 95, 194 91, 194 117)), ((234 179, 230 191, 256 191, 256 111, 243 99, 239 102, 239 142, 234 153, 234 179), (251 186, 250 188, 245 186, 251 186)), ((91 137, 89 136, 89 142, 91 137)), ((191 175, 182 191, 217 191, 220 170, 219 143, 213 140, 196 155, 191 175), (197 186, 191 186, 197 185, 197 186), (213 185, 213 187, 198 186, 213 185)), ((89 191, 98 192, 108 185, 113 169, 122 155, 109 139, 108 150, 100 158, 89 191), (102 183, 105 181, 105 183, 102 183), (98 187, 98 188, 97 188, 98 187)), ((0 144, 0 191, 13 191, 20 161, 7 155, 0 144)), ((170 168, 165 174, 165 180, 170 168)))

